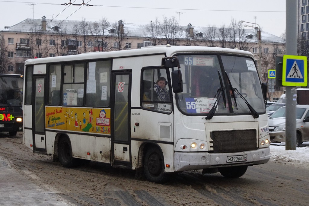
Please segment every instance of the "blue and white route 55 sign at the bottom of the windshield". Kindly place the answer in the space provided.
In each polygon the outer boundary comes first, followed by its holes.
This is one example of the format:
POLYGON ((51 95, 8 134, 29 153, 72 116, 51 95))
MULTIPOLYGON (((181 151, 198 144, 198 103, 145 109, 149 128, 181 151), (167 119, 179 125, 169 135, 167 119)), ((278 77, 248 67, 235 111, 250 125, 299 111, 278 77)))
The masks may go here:
POLYGON ((208 113, 214 106, 214 98, 186 98, 188 113, 208 113))

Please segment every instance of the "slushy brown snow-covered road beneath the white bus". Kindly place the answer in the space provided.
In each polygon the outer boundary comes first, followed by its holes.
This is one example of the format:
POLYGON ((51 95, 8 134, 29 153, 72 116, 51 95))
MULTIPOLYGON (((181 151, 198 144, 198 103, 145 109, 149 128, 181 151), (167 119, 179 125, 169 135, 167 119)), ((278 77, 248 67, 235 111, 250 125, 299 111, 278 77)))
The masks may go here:
POLYGON ((162 185, 102 163, 63 168, 51 156, 32 153, 22 144, 21 133, 1 133, 0 205, 307 205, 307 143, 295 151, 272 145, 271 161, 248 167, 239 179, 198 170, 162 185))

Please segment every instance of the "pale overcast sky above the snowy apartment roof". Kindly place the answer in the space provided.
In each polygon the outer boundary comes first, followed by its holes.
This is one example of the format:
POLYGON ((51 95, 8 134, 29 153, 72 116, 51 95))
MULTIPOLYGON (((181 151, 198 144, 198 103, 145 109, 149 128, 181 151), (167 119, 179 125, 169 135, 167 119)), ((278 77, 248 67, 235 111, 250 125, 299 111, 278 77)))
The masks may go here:
MULTIPOLYGON (((175 16, 180 25, 227 27, 231 19, 257 23, 265 32, 276 36, 285 33, 286 1, 284 0, 85 0, 93 6, 65 6, 61 4, 82 4, 83 0, 0 0, 0 30, 13 26, 24 19, 82 20, 99 21, 106 18, 114 23, 120 19, 124 23, 148 24, 156 18, 162 22, 163 16, 175 16), (52 3, 49 3, 52 2, 52 3)), ((249 23, 244 23, 249 24, 249 23)), ((252 24, 249 24, 252 25, 252 24)), ((249 28, 249 27, 247 27, 249 28)))

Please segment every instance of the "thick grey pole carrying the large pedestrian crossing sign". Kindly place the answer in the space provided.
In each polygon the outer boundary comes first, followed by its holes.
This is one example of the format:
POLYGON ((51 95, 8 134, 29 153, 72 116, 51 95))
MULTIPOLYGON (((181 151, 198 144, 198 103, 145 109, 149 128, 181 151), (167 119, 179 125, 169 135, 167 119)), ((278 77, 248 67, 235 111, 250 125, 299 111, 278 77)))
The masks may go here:
MULTIPOLYGON (((297 55, 297 1, 286 0, 286 54, 297 55)), ((296 150, 296 86, 286 86, 286 150, 296 150)))

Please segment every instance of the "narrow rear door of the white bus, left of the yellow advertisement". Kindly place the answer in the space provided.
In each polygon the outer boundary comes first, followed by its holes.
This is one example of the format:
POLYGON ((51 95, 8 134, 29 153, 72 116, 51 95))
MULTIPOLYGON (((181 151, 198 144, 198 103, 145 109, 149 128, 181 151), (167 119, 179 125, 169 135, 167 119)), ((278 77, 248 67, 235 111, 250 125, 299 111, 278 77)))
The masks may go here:
POLYGON ((44 110, 44 82, 45 78, 41 76, 33 77, 32 94, 34 103, 32 108, 32 125, 33 125, 33 151, 39 153, 46 152, 45 141, 45 110, 44 110))

